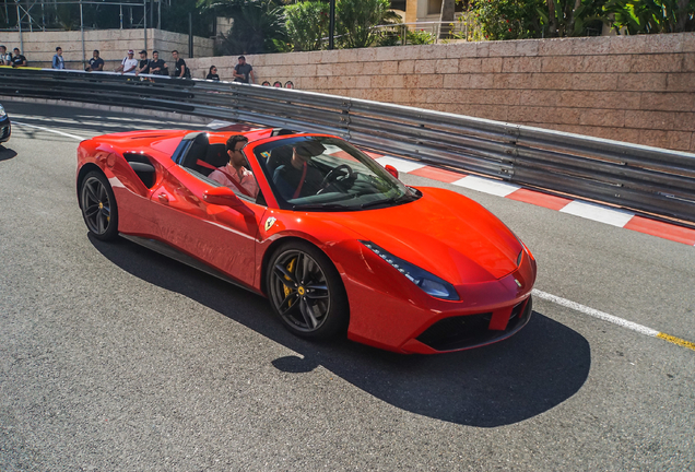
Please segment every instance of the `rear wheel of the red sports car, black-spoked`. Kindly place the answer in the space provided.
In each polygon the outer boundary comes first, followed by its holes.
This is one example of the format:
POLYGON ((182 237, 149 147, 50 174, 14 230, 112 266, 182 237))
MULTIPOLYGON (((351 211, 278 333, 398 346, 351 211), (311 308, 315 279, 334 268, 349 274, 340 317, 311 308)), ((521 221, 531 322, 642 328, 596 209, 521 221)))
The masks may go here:
POLYGON ((80 186, 80 206, 87 229, 99 240, 118 237, 118 206, 114 190, 101 172, 84 176, 80 186))

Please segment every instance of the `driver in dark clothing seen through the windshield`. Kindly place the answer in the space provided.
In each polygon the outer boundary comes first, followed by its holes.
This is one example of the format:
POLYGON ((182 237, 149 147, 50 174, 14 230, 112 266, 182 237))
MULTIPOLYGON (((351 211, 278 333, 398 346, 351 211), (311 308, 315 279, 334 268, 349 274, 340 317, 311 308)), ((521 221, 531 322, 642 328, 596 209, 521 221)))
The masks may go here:
POLYGON ((273 173, 273 184, 285 200, 316 194, 321 189, 323 175, 308 165, 314 155, 325 151, 321 143, 303 142, 292 149, 288 164, 279 166, 273 173))

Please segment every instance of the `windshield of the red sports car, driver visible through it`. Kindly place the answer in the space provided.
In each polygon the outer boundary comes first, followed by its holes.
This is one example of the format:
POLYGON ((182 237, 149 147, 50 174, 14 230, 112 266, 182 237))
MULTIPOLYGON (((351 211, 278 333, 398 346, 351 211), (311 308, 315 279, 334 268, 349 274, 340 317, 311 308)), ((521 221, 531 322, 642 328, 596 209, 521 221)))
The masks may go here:
POLYGON ((254 150, 283 209, 355 211, 420 197, 370 157, 337 138, 297 137, 254 150))

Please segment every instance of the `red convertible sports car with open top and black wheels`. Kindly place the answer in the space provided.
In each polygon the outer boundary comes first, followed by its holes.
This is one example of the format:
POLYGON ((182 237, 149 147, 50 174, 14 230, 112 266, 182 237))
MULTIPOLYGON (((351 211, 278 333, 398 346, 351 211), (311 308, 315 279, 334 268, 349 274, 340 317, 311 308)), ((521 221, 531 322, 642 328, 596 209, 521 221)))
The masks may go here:
POLYGON ((232 134, 83 141, 76 188, 89 231, 261 294, 304 338, 346 332, 433 354, 499 341, 529 321, 535 260, 480 204, 408 187, 335 137, 264 129, 246 132, 247 143, 232 134))

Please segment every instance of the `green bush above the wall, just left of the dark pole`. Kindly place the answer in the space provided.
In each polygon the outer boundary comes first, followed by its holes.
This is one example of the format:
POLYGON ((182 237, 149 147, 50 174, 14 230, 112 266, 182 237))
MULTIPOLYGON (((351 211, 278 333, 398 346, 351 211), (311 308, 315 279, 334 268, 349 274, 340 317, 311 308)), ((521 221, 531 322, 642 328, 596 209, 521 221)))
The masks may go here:
POLYGON ((294 50, 317 50, 328 36, 329 4, 303 1, 285 7, 287 36, 294 50))

